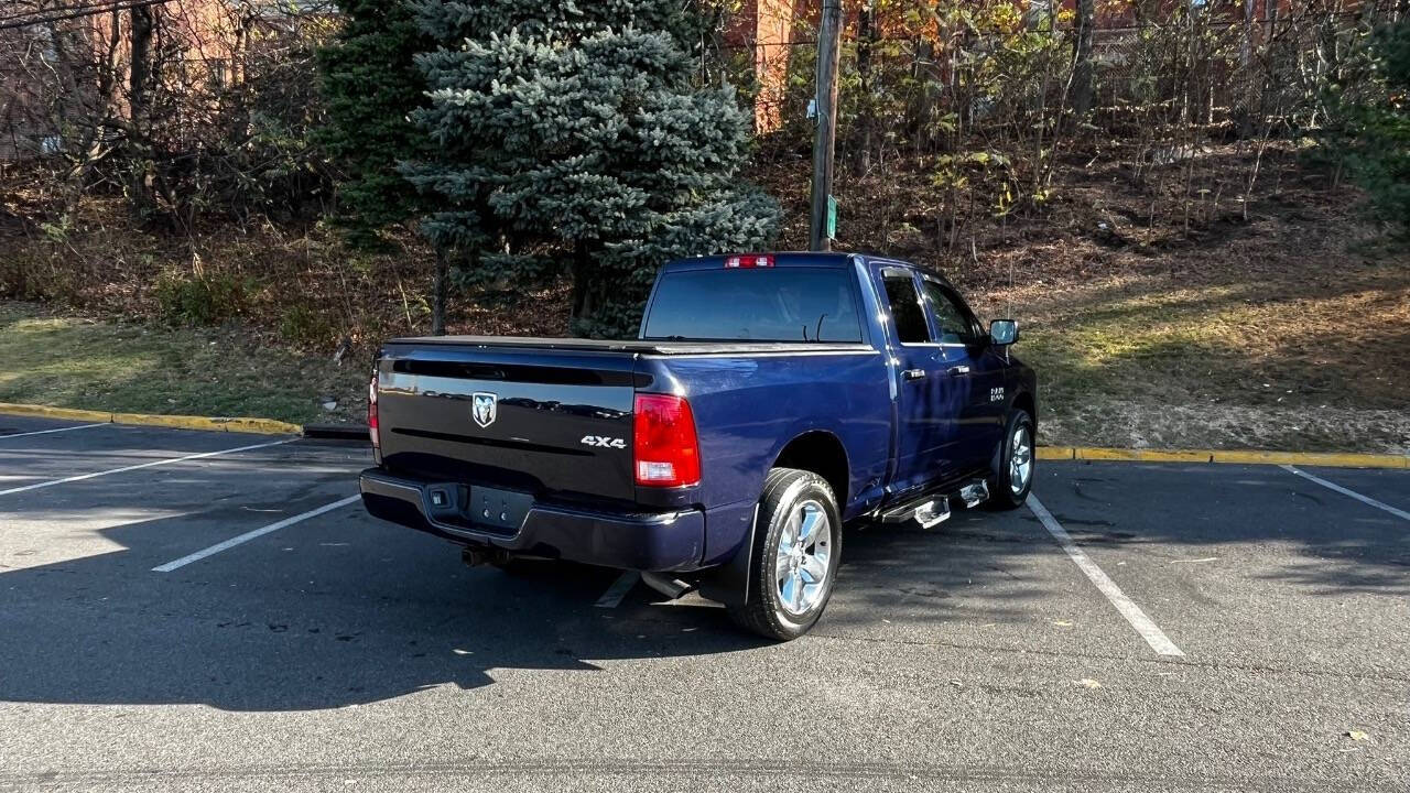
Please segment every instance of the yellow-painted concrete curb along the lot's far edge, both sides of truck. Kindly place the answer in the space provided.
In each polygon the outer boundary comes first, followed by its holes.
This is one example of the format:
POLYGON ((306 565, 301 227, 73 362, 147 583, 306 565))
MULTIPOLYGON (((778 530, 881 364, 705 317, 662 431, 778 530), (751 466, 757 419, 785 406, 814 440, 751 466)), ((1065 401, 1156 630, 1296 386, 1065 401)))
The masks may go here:
MULTIPOLYGON (((207 432, 250 432, 259 435, 307 435, 309 437, 362 439, 362 428, 303 428, 274 419, 154 416, 147 413, 109 413, 75 411, 47 405, 0 402, 0 413, 44 416, 75 422, 110 422, 134 426, 202 429, 207 432), (337 432, 334 432, 337 430, 337 432)), ((1359 454, 1354 452, 1261 452, 1256 449, 1103 449, 1097 446, 1039 446, 1039 460, 1100 460, 1128 463, 1222 463, 1235 466, 1321 466, 1328 468, 1402 468, 1410 470, 1410 454, 1359 454)))

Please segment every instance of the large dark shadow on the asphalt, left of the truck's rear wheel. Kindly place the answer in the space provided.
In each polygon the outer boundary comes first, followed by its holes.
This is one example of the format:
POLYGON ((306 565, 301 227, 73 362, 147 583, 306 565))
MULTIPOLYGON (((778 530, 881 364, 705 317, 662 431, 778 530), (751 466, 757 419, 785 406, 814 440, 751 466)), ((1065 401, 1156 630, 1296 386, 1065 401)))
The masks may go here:
MULTIPOLYGON (((178 521, 102 533, 133 549, 178 521)), ((374 553, 331 571, 299 569, 313 564, 309 555, 238 566, 231 555, 162 576, 125 563, 123 550, 0 570, 0 700, 334 708, 446 683, 474 689, 494 683, 496 669, 591 673, 599 660, 761 643, 723 625, 643 641, 594 608, 616 571, 471 570, 448 543, 395 526, 384 533, 431 553, 374 553)))

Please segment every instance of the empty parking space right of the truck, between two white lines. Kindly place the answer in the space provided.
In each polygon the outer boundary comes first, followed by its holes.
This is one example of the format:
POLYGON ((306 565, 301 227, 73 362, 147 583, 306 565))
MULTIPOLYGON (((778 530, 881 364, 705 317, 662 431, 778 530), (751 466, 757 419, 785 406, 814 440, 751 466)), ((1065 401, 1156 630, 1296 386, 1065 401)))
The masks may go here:
POLYGON ((1275 466, 1050 466, 1039 492, 1196 658, 1308 673, 1404 663, 1410 522, 1275 466))

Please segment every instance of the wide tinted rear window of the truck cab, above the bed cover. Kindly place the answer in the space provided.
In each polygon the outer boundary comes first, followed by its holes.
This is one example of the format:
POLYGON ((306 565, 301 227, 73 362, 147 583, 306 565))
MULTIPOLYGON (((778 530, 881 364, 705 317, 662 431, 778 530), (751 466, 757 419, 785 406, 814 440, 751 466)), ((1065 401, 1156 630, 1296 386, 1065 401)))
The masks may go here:
POLYGON ((862 341, 850 268, 667 272, 642 337, 656 341, 862 341))

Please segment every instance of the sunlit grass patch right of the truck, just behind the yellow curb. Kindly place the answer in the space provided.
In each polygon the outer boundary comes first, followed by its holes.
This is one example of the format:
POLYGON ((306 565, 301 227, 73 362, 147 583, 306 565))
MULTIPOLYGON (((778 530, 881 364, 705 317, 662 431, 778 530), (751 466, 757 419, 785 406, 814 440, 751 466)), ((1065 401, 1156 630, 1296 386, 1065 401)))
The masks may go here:
POLYGON ((1406 452, 1410 267, 1246 282, 1112 278, 1007 295, 1045 443, 1406 452))

